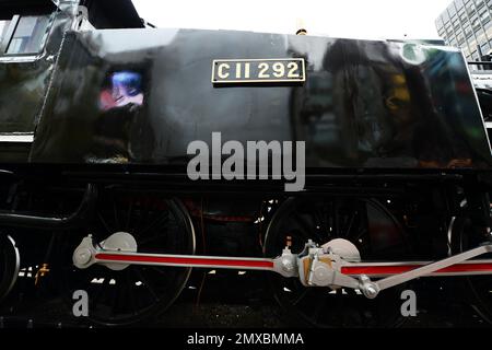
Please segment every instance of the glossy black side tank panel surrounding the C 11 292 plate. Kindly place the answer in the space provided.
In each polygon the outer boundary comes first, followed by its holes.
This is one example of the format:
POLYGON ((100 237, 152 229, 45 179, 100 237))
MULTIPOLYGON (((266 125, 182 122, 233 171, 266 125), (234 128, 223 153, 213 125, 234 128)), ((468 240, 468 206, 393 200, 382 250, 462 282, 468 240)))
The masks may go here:
POLYGON ((491 164, 455 49, 192 30, 69 33, 31 161, 181 164, 188 143, 214 131, 222 142, 306 141, 308 167, 491 164), (306 60, 302 86, 211 83, 213 59, 289 57, 306 60), (133 91, 110 101, 118 79, 133 91))

